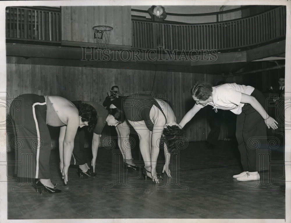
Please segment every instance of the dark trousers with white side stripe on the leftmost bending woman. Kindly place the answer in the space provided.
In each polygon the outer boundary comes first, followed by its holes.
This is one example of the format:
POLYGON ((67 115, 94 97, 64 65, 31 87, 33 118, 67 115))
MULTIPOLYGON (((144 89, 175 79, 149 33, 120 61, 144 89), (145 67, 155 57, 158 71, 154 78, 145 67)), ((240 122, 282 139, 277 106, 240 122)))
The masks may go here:
POLYGON ((18 177, 50 179, 49 156, 51 137, 46 124, 47 105, 44 96, 25 94, 15 98, 10 106, 16 137, 15 173, 18 177))

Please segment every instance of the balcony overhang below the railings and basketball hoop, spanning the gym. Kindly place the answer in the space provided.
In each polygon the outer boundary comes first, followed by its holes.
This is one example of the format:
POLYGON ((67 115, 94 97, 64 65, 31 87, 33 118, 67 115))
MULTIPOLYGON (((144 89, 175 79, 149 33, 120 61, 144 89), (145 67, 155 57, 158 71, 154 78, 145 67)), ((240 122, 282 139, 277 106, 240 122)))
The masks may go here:
POLYGON ((158 52, 117 49, 102 54, 93 47, 6 43, 7 63, 221 74, 234 73, 250 61, 284 53, 285 40, 227 53, 198 50, 192 55, 189 52, 167 55, 164 51, 158 52))

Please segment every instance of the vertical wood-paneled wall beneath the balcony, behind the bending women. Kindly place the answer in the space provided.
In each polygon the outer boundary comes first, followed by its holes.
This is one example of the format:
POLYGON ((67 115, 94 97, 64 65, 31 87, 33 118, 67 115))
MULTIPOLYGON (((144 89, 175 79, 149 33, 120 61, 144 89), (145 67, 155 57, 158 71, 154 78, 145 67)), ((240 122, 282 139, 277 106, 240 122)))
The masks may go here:
MULTIPOLYGON (((168 100, 180 122, 187 111, 194 106, 190 89, 198 80, 216 84, 220 75, 206 75, 180 72, 146 70, 123 70, 86 67, 62 67, 32 64, 7 64, 7 90, 14 94, 34 93, 59 95, 69 100, 96 101, 103 103, 111 86, 118 85, 125 94, 152 91, 168 100)), ((184 127, 189 141, 204 141, 210 131, 206 119, 206 108, 184 127)), ((220 139, 227 137, 223 125, 220 139)))

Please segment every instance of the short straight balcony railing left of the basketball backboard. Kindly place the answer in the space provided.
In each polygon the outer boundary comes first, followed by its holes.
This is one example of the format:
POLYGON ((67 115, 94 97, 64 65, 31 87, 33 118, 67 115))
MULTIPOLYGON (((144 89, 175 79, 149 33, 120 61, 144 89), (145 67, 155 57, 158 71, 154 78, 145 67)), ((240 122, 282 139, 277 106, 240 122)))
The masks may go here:
POLYGON ((7 7, 6 38, 60 42, 61 12, 59 9, 7 7))

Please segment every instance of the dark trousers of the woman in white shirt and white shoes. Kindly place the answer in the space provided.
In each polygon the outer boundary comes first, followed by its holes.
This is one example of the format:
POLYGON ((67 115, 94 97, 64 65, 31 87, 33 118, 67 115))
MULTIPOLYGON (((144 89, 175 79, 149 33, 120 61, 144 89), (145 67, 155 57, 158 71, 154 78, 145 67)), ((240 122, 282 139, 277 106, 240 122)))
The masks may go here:
MULTIPOLYGON (((251 96, 266 109, 266 100, 259 90, 254 90, 251 96)), ((236 137, 244 171, 257 170, 257 149, 267 149, 267 129, 264 119, 250 105, 242 107, 242 113, 237 115, 236 137)))

